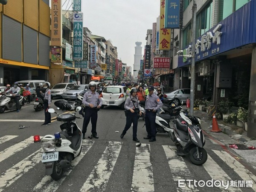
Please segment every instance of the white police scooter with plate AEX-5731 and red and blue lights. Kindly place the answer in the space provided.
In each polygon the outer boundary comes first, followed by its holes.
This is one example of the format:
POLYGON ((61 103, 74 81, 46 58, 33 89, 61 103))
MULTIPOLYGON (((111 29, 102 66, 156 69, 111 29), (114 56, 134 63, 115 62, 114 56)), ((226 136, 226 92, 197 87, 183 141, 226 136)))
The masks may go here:
MULTIPOLYGON (((80 106, 76 108, 76 111, 80 110, 80 106)), ((48 112, 56 113, 52 108, 49 108, 48 112)), ((42 163, 45 164, 46 175, 59 180, 63 175, 63 169, 68 168, 72 160, 81 154, 82 133, 75 121, 81 118, 77 117, 76 113, 63 113, 60 116, 57 113, 55 119, 64 122, 60 125, 61 132, 46 135, 41 140, 39 135, 35 135, 34 142, 41 141, 42 143, 41 147, 44 150, 42 163)))

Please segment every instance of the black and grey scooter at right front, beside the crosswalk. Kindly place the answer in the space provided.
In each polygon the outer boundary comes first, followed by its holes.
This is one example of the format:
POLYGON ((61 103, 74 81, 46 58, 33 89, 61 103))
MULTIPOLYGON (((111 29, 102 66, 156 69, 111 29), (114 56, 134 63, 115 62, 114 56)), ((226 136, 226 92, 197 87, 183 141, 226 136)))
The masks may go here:
POLYGON ((179 116, 175 116, 173 130, 169 136, 178 148, 178 155, 189 154, 189 159, 195 165, 202 165, 207 161, 207 151, 204 133, 201 128, 201 119, 197 116, 189 116, 181 106, 177 107, 179 116))

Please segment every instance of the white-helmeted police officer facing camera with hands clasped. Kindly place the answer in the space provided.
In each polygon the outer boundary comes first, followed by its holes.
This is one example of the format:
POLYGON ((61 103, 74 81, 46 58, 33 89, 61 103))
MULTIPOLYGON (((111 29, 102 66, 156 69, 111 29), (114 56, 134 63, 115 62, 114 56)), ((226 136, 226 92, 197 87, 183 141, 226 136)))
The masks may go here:
POLYGON ((83 122, 83 140, 85 139, 85 133, 87 131, 87 126, 90 122, 92 123, 92 135, 94 138, 98 139, 96 132, 96 125, 98 119, 98 111, 99 108, 102 106, 102 99, 99 93, 96 92, 97 84, 94 81, 89 83, 89 91, 84 93, 84 98, 82 103, 85 105, 84 109, 84 122, 83 122))

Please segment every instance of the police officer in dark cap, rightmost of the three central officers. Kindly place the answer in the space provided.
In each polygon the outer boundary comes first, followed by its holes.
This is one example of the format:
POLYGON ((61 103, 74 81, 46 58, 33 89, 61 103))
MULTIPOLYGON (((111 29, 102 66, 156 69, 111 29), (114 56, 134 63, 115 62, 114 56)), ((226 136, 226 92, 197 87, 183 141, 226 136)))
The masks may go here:
POLYGON ((154 86, 150 85, 148 87, 148 95, 146 96, 145 101, 145 125, 148 136, 143 137, 145 140, 149 139, 149 142, 156 141, 156 115, 157 110, 162 106, 163 103, 159 97, 154 94, 154 86))

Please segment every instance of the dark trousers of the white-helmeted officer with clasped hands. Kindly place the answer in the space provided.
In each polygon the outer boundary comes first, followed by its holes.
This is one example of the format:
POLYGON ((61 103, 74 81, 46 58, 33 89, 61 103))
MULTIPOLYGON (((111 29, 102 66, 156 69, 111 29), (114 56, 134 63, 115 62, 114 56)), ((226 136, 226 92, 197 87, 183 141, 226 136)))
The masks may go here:
POLYGON ((89 108, 89 107, 84 109, 84 122, 83 122, 83 129, 82 129, 83 135, 87 131, 87 126, 90 120, 92 123, 92 134, 97 135, 97 132, 96 132, 97 119, 98 119, 98 110, 96 110, 95 108, 89 108))

